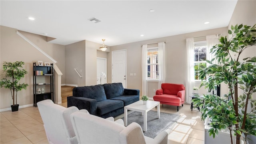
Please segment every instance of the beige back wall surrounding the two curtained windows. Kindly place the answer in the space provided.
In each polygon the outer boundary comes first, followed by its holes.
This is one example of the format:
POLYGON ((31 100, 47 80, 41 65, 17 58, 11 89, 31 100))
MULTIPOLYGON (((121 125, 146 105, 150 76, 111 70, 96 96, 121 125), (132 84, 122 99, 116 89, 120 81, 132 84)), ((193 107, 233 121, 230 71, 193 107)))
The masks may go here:
MULTIPOLYGON (((141 56, 143 44, 153 44, 157 42, 166 42, 166 82, 186 84, 186 40, 185 38, 193 38, 199 36, 207 36, 213 34, 227 34, 227 28, 216 28, 212 30, 204 30, 200 32, 192 32, 180 34, 176 36, 168 36, 164 38, 156 38, 152 40, 144 40, 129 44, 112 46, 113 50, 127 50, 127 88, 137 88, 142 91, 141 76, 141 56), (136 76, 130 76, 130 73, 136 73, 136 76)), ((111 52, 108 53, 108 83, 111 82, 111 52)), ((148 96, 154 95, 153 89, 158 89, 157 84, 150 82, 148 96)))

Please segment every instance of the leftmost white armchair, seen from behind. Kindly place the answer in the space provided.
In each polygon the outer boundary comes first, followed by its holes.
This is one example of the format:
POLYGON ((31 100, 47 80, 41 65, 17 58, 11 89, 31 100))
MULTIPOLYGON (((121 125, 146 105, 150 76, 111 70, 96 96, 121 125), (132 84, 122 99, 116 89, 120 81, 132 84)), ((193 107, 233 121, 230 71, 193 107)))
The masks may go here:
MULTIPOLYGON (((44 122, 44 130, 49 144, 78 144, 70 121, 70 114, 78 112, 78 108, 65 108, 54 104, 52 100, 43 100, 37 103, 38 110, 44 122)), ((80 110, 81 113, 89 113, 80 110)))

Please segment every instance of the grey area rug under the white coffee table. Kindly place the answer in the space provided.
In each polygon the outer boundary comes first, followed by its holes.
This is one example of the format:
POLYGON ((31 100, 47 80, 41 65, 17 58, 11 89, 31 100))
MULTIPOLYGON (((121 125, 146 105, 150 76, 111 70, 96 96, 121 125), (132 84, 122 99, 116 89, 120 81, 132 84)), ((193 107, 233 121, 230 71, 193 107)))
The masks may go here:
MULTIPOLYGON (((142 130, 143 126, 143 115, 141 112, 132 112, 128 114, 128 125, 132 122, 136 122, 140 124, 142 130)), ((180 118, 180 115, 177 114, 168 114, 164 112, 160 112, 160 118, 157 118, 157 112, 150 110, 147 113, 147 131, 144 132, 144 136, 148 136, 150 138, 155 138, 160 132, 166 131, 168 134, 172 131, 172 128, 176 124, 177 120, 180 118)), ((124 117, 122 118, 124 120, 124 117)))

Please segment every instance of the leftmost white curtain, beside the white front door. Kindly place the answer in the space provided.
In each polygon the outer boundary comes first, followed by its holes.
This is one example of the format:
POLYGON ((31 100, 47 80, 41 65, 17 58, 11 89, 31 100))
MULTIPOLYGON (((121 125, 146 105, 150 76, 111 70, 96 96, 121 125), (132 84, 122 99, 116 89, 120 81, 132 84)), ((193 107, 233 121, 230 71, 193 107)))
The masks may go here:
POLYGON ((147 94, 148 84, 147 84, 147 72, 148 72, 148 45, 142 45, 142 95, 147 94))

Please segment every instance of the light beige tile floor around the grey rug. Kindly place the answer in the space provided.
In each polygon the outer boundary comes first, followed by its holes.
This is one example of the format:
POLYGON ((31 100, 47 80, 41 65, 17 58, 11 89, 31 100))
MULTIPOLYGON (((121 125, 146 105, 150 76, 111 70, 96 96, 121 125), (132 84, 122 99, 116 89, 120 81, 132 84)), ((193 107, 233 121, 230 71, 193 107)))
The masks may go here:
MULTIPOLYGON (((60 104, 67 107, 67 103, 60 104)), ((179 114, 180 119, 168 135, 168 144, 204 144, 204 122, 201 113, 190 105, 180 106, 160 105, 160 111, 179 114)), ((156 109, 153 109, 156 110, 156 109)), ((117 118, 122 118, 121 114, 117 118)), ((48 144, 43 122, 38 108, 20 108, 17 112, 0 113, 0 144, 48 144)))

